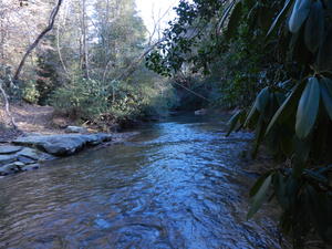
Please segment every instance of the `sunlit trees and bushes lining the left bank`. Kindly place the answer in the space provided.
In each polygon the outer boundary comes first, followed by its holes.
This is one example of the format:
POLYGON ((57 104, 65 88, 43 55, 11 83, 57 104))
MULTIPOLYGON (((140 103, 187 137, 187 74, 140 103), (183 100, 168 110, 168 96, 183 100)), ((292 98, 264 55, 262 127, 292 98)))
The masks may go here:
MULTIPOLYGON (((14 80, 21 54, 42 28, 56 1, 6 0, 0 4, 0 79, 9 97, 52 105, 56 113, 79 123, 126 123, 165 115, 176 105, 175 90, 167 80, 142 63, 154 38, 148 38, 135 0, 63 1, 53 29, 31 53, 20 80, 14 80), (29 33, 21 19, 38 29, 29 33), (3 17, 3 18, 2 18, 3 17), (21 35, 21 33, 29 35, 21 35), (8 34, 8 35, 6 35, 8 34), (23 45, 13 48, 15 39, 23 45), (8 69, 8 70, 7 70, 8 69), (6 72, 4 72, 6 71, 6 72)), ((29 27, 29 25, 28 25, 29 27)))

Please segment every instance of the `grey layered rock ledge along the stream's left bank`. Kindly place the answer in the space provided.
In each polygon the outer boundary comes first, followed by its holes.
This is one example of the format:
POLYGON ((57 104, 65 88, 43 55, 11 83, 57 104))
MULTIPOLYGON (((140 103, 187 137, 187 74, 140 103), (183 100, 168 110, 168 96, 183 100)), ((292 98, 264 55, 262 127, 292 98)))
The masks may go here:
POLYGON ((37 169, 40 163, 73 155, 84 148, 124 141, 132 134, 28 135, 0 145, 0 176, 37 169))

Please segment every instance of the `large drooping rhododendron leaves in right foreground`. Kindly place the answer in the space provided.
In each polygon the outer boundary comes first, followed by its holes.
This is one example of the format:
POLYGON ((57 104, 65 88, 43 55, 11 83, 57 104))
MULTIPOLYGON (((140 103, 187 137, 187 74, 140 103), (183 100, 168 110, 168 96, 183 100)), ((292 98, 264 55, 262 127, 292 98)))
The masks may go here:
POLYGON ((286 82, 292 82, 291 90, 283 89, 284 83, 263 89, 242 123, 256 131, 255 154, 266 142, 276 156, 290 162, 289 168, 281 166, 257 181, 248 217, 252 217, 271 194, 283 210, 281 227, 292 234, 295 247, 302 247, 303 237, 312 230, 326 242, 332 238, 332 219, 328 211, 332 210, 331 175, 326 174, 331 170, 326 165, 332 159, 328 155, 332 146, 332 64, 326 45, 331 37, 329 12, 325 1, 286 1, 267 39, 277 28, 278 33, 289 30, 287 51, 302 72, 286 82), (282 19, 288 25, 280 27, 282 19), (273 107, 267 107, 269 105, 273 107))

